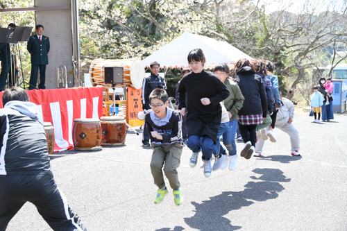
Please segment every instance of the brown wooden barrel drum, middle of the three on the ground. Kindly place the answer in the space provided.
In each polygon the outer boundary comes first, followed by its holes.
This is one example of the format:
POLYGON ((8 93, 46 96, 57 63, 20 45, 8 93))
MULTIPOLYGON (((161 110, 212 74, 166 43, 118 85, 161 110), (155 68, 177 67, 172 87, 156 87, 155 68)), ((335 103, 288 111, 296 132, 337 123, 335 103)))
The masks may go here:
POLYGON ((74 149, 80 151, 100 150, 101 126, 99 119, 75 119, 72 127, 74 149))

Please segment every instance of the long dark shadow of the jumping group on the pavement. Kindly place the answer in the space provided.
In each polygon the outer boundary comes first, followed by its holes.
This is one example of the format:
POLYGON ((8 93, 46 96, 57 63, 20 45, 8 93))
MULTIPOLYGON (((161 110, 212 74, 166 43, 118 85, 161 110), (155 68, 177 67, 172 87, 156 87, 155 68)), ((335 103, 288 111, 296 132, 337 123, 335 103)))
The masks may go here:
POLYGON ((244 191, 223 191, 222 194, 204 200, 195 206, 195 215, 185 218, 185 223, 198 230, 239 230, 242 226, 232 225, 231 221, 223 217, 232 210, 252 205, 255 201, 265 201, 278 197, 278 192, 285 189, 279 182, 289 182, 280 169, 254 169, 260 177, 251 176, 260 182, 248 182, 244 191), (253 201, 252 201, 253 200, 253 201))

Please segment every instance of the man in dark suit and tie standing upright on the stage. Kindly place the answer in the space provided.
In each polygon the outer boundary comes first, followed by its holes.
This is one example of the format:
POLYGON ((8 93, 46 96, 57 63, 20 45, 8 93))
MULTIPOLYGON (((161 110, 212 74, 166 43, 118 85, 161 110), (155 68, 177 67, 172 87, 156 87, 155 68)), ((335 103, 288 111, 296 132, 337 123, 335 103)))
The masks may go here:
POLYGON ((48 65, 49 37, 43 35, 44 27, 36 25, 36 35, 29 38, 27 49, 31 53, 31 76, 29 89, 35 89, 37 84, 37 74, 40 70, 39 89, 46 89, 46 65, 48 65))

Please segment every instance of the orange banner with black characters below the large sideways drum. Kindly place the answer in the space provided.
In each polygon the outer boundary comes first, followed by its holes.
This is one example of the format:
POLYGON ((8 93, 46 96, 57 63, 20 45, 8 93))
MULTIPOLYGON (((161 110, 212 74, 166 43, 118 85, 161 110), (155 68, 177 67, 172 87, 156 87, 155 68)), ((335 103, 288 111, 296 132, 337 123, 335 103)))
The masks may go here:
POLYGON ((127 104, 126 119, 132 127, 143 126, 144 121, 137 118, 137 113, 142 112, 141 103, 142 89, 135 89, 134 87, 128 87, 127 89, 127 104))

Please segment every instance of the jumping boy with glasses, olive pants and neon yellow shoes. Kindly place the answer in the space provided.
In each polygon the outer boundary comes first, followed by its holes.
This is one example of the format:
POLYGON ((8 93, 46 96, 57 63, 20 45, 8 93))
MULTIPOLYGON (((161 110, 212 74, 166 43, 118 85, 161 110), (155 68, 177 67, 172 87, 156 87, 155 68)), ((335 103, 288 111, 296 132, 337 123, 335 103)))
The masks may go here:
POLYGON ((168 98, 164 89, 154 89, 149 95, 151 110, 146 112, 145 117, 146 128, 153 147, 151 172, 155 185, 159 187, 154 203, 161 203, 167 194, 162 174, 164 166, 165 176, 174 190, 174 202, 176 205, 181 205, 183 197, 176 169, 180 166, 180 155, 183 151, 182 123, 178 112, 167 107, 168 98))

